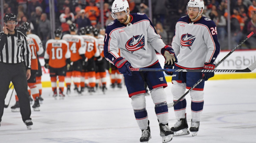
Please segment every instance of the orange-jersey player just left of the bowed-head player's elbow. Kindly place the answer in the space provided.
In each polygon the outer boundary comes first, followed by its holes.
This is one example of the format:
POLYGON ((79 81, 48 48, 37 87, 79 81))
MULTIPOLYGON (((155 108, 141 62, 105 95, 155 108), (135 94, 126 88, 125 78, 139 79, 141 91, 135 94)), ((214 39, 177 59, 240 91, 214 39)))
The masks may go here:
POLYGON ((108 63, 107 60, 104 58, 104 37, 99 36, 99 31, 95 28, 93 29, 93 35, 95 38, 98 40, 98 50, 99 54, 101 55, 102 59, 96 59, 96 76, 98 74, 101 83, 102 83, 102 91, 105 94, 105 91, 107 89, 106 84, 107 84, 107 79, 106 79, 106 64, 108 63))

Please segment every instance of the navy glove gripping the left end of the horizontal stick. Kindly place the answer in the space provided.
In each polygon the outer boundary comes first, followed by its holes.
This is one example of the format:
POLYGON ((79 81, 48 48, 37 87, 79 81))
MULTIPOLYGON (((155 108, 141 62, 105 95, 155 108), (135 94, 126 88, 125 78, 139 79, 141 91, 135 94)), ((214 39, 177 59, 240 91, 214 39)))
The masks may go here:
POLYGON ((121 73, 121 74, 128 74, 128 75, 132 75, 131 74, 131 71, 129 68, 132 68, 131 67, 131 63, 126 60, 125 58, 123 57, 119 57, 117 58, 115 61, 114 61, 114 64, 115 66, 118 68, 118 71, 121 73))

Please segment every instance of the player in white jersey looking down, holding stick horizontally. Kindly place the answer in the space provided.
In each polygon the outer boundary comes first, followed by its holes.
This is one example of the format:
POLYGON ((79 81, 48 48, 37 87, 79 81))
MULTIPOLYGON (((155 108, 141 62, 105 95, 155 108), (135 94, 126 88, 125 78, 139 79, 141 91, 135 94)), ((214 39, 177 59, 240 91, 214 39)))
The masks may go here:
POLYGON ((140 142, 151 138, 144 81, 150 88, 155 114, 157 114, 162 142, 170 142, 173 132, 168 126, 168 107, 164 87, 167 86, 163 72, 132 72, 133 68, 161 68, 155 50, 166 51, 165 58, 176 61, 170 46, 166 46, 157 34, 152 22, 144 14, 130 14, 126 0, 115 0, 112 5, 112 17, 115 20, 108 24, 105 34, 104 56, 115 64, 118 71, 124 74, 125 84, 136 121, 142 131, 140 142), (117 47, 121 55, 117 54, 117 47))

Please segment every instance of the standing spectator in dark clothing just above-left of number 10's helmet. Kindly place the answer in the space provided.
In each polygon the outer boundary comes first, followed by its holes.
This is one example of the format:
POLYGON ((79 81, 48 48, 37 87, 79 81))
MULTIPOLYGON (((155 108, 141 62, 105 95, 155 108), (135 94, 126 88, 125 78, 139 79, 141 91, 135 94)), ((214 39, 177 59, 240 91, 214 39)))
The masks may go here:
MULTIPOLYGON (((46 41, 51 38, 51 25, 50 20, 47 19, 47 14, 42 14, 38 25, 38 36, 40 37, 43 46, 46 41)), ((45 49, 45 47, 44 47, 45 49)))

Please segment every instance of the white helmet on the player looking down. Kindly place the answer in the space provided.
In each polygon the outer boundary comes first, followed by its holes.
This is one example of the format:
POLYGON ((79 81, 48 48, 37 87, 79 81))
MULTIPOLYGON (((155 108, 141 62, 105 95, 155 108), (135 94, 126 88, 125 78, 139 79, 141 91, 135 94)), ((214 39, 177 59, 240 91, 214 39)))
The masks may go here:
POLYGON ((112 17, 116 19, 116 16, 114 15, 114 13, 121 12, 121 11, 125 11, 127 16, 129 16, 129 12, 127 11, 127 8, 129 8, 129 4, 127 0, 115 0, 111 7, 112 17))

